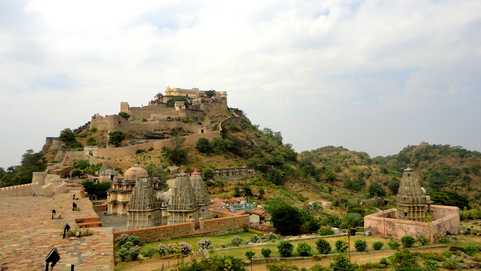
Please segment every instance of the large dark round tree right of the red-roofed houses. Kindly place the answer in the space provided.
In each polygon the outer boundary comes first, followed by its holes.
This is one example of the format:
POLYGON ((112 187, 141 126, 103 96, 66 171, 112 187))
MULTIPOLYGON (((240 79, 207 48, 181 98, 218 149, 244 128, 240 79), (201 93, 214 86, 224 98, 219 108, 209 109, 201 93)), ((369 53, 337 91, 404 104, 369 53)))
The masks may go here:
POLYGON ((271 215, 272 226, 282 235, 296 235, 299 228, 304 225, 305 220, 301 210, 290 206, 280 198, 269 201, 265 209, 271 215))

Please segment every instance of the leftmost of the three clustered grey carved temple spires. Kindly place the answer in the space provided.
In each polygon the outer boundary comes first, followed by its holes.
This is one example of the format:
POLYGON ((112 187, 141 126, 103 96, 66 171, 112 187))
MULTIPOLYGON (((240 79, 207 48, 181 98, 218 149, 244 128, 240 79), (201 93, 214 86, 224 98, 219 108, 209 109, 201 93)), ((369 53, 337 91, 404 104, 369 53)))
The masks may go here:
POLYGON ((154 227, 162 224, 161 202, 155 197, 145 174, 137 179, 127 205, 127 229, 154 227))

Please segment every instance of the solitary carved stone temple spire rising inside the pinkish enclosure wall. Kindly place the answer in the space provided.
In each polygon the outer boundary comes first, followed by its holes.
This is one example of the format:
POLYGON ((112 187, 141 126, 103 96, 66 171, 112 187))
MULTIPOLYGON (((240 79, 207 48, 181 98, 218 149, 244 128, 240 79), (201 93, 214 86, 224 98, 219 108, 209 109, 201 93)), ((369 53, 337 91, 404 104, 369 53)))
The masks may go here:
POLYGON ((424 193, 424 188, 414 175, 413 169, 406 168, 396 196, 397 218, 425 221, 430 202, 427 201, 424 193))

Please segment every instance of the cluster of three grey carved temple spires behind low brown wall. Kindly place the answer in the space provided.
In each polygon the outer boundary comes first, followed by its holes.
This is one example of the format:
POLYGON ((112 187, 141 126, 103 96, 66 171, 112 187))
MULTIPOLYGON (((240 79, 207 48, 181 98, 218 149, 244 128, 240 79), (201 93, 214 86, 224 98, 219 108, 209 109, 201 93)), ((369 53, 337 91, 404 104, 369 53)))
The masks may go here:
POLYGON ((141 175, 127 205, 127 229, 211 219, 209 194, 199 171, 177 174, 172 191, 156 196, 151 179, 141 175))

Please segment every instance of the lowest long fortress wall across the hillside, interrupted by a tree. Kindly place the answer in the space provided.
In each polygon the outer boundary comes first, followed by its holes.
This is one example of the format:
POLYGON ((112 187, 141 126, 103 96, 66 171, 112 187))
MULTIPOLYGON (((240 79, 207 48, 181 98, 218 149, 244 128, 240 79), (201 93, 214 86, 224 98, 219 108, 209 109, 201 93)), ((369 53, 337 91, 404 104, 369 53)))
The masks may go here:
MULTIPOLYGON (((202 138, 202 137, 212 141, 214 138, 220 137, 220 131, 212 131, 212 132, 206 132, 202 134, 193 134, 193 135, 184 136, 184 138, 186 139, 186 141, 184 142, 184 145, 195 145, 195 143, 197 143, 197 140, 199 140, 199 138, 202 138)), ((118 157, 135 155, 135 152, 139 149, 147 150, 150 147, 153 147, 154 149, 162 149, 162 147, 168 146, 169 143, 170 143, 169 139, 164 139, 161 141, 147 142, 147 143, 127 146, 127 147, 99 148, 97 151, 97 154, 99 157, 104 157, 104 158, 107 158, 107 157, 118 158, 118 157)))

